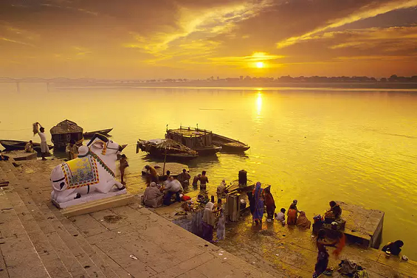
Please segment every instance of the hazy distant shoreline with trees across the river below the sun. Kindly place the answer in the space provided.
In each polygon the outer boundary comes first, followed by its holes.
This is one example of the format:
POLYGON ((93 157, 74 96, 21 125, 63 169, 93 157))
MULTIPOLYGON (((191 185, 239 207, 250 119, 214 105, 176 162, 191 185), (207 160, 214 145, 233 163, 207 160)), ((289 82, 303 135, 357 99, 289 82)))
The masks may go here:
POLYGON ((141 82, 141 83, 67 83, 57 82, 54 83, 56 89, 70 89, 70 88, 236 88, 236 90, 274 90, 274 89, 304 89, 304 90, 316 90, 319 88, 327 90, 417 90, 417 83, 281 83, 281 82, 234 82, 234 81, 188 81, 188 82, 141 82))

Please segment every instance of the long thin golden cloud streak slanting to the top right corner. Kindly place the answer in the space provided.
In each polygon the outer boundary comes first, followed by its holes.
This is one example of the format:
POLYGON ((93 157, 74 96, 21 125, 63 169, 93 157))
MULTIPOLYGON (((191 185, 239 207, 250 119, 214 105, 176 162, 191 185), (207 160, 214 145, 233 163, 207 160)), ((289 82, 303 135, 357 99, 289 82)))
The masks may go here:
POLYGON ((377 15, 388 13, 392 10, 399 10, 403 8, 413 8, 415 6, 417 6, 417 0, 391 1, 388 3, 382 3, 381 6, 372 6, 372 5, 365 6, 359 10, 354 11, 354 13, 351 13, 350 15, 327 22, 324 26, 315 28, 313 31, 309 31, 302 35, 298 35, 295 37, 286 38, 285 40, 281 40, 281 42, 277 42, 277 48, 280 49, 284 47, 289 47, 299 42, 314 39, 315 35, 318 33, 327 31, 332 28, 341 27, 341 26, 344 26, 345 24, 350 24, 352 22, 357 22, 361 19, 368 19, 370 17, 375 17, 377 15))

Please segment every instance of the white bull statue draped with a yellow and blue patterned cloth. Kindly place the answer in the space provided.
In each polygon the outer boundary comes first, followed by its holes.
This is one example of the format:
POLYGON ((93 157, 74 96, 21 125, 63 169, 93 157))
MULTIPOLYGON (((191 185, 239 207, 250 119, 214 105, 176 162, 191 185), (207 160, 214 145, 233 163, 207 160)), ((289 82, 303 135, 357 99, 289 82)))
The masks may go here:
POLYGON ((101 134, 95 134, 87 146, 79 147, 78 158, 62 163, 51 172, 52 200, 58 204, 79 199, 92 192, 109 193, 116 186, 117 154, 122 147, 101 134))

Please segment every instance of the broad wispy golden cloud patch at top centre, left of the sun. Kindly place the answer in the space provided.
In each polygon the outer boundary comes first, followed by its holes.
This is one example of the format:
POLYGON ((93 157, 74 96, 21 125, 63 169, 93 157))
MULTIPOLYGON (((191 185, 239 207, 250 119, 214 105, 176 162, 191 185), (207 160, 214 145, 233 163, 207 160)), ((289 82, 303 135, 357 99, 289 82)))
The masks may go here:
POLYGON ((167 60, 174 56, 189 56, 202 52, 208 54, 220 46, 220 42, 215 42, 210 38, 231 33, 239 22, 255 17, 263 9, 272 5, 271 0, 262 0, 198 11, 179 8, 176 30, 158 32, 151 36, 132 33, 135 42, 126 43, 124 47, 140 49, 147 54, 154 55, 154 59, 148 60, 150 63, 167 60))

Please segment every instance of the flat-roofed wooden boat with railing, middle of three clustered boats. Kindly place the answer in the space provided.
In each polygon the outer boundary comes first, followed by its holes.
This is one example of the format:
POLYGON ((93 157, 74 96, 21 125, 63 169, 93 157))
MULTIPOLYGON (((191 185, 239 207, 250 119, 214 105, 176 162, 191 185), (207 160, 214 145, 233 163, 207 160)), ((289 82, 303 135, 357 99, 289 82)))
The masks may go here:
POLYGON ((167 129, 165 138, 177 141, 199 155, 212 155, 220 152, 222 147, 213 145, 213 132, 205 129, 194 129, 191 127, 179 126, 179 129, 167 129))

